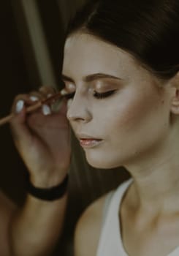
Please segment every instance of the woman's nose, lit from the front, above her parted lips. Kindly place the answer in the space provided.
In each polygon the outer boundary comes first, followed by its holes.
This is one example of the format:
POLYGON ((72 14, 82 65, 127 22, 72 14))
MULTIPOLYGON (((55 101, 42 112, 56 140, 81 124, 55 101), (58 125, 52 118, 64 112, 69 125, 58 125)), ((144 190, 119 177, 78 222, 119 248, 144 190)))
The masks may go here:
POLYGON ((92 116, 88 110, 87 100, 83 99, 83 97, 77 97, 75 94, 75 97, 69 105, 66 116, 70 122, 78 121, 87 123, 88 121, 91 121, 92 116))

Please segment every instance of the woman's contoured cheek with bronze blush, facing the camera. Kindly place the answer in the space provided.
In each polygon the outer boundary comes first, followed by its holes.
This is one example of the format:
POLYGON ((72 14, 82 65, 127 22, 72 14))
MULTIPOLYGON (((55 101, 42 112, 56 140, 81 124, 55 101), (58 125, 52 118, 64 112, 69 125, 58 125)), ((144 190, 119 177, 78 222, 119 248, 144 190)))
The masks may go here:
POLYGON ((153 143, 162 132, 166 132, 167 105, 156 91, 123 95, 118 102, 107 111, 109 118, 103 125, 112 146, 137 148, 144 139, 153 143))

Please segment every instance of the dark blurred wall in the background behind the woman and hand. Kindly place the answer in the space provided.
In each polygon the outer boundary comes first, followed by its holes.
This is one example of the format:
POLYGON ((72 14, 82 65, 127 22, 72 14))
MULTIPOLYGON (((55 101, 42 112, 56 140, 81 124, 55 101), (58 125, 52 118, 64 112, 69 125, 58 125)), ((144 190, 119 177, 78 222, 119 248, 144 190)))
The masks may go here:
MULTIPOLYGON (((69 17, 84 0, 3 0, 0 9, 1 100, 0 116, 10 111, 16 94, 48 84, 58 89, 64 30, 69 17)), ((26 167, 9 131, 1 133, 1 189, 19 206, 26 197, 26 167)), ((85 161, 83 150, 72 137, 72 164, 69 170, 69 203, 64 239, 54 255, 71 256, 75 222, 96 197, 115 188, 129 177, 126 170, 96 170, 85 161)))

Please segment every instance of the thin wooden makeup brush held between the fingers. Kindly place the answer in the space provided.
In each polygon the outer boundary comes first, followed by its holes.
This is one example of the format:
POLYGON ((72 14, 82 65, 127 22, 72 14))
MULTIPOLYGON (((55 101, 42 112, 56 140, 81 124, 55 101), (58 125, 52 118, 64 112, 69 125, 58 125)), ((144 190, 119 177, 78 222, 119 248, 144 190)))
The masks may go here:
MULTIPOLYGON (((53 94, 52 96, 48 97, 47 99, 43 99, 41 101, 38 101, 34 105, 29 106, 28 108, 26 108, 26 112, 31 113, 34 110, 37 110, 38 108, 42 107, 42 105, 53 103, 53 102, 56 101, 56 99, 60 99, 61 97, 66 97, 68 99, 69 95, 70 94, 65 94, 64 90, 62 90, 62 91, 60 91, 56 94, 53 94)), ((0 126, 9 122, 16 115, 17 115, 16 113, 10 113, 9 116, 5 116, 4 118, 1 118, 0 119, 0 126)))

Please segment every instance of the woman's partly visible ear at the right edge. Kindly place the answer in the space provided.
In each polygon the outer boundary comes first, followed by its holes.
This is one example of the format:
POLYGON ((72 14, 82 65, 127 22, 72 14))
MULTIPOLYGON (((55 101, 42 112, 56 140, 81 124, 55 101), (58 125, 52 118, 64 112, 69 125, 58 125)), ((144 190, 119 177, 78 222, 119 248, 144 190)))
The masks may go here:
POLYGON ((172 88, 171 112, 179 115, 179 72, 170 80, 172 88))

